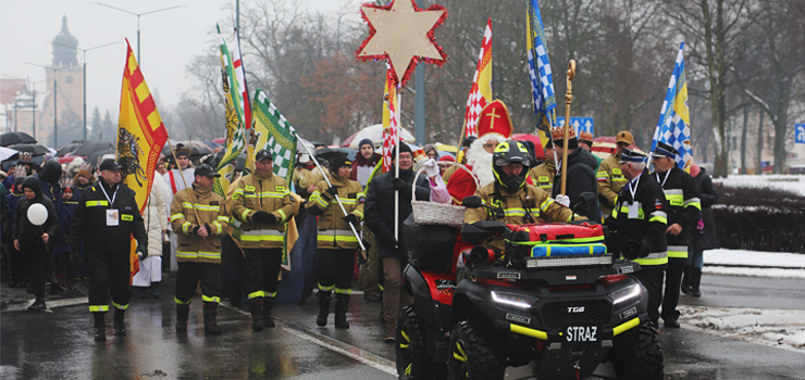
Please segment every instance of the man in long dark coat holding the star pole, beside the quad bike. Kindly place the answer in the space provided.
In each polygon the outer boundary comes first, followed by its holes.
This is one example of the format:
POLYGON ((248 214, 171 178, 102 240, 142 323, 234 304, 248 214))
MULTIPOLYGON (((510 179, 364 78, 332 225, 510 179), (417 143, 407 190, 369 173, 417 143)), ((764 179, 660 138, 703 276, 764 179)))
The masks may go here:
MULTIPOLYGON (((396 159, 396 155, 393 155, 396 159)), ((395 162, 395 164, 397 164, 395 162)), ((408 263, 405 239, 403 238, 403 221, 411 215, 411 183, 413 182, 413 154, 411 148, 400 142, 399 148, 399 178, 395 177, 395 169, 376 176, 369 182, 366 203, 366 219, 375 236, 377 256, 385 278, 383 289, 383 319, 386 331, 384 342, 394 342, 397 314, 399 309, 412 302, 403 289, 403 269, 408 263), (399 192, 399 216, 394 233, 394 193, 399 192)), ((431 189, 428 179, 421 176, 417 179, 417 200, 429 201, 431 189)))

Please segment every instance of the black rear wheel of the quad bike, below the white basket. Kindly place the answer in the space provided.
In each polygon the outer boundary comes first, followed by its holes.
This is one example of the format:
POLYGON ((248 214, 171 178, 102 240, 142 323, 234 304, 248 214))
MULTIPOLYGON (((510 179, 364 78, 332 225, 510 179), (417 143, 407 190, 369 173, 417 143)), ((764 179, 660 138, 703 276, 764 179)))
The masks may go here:
POLYGON ((413 305, 404 307, 397 318, 395 356, 400 380, 444 378, 444 364, 428 356, 424 330, 420 327, 413 305))

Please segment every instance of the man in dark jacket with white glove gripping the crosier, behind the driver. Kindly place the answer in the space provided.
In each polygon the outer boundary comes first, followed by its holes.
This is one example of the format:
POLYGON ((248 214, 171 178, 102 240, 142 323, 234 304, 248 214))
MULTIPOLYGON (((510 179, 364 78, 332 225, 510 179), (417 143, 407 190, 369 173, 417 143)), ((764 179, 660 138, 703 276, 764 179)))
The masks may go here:
MULTIPOLYGON (((565 131, 561 127, 554 128, 554 149, 557 157, 562 156, 565 147, 565 131)), ((579 149, 579 140, 575 138, 573 128, 568 130, 568 175, 565 194, 561 194, 561 162, 557 163, 559 169, 554 177, 554 188, 552 197, 565 207, 573 210, 577 214, 586 216, 590 220, 600 220, 598 211, 598 181, 595 172, 598 168, 598 162, 593 154, 579 149), (574 210, 575 205, 581 202, 581 194, 592 192, 595 195, 595 202, 586 204, 574 210)))

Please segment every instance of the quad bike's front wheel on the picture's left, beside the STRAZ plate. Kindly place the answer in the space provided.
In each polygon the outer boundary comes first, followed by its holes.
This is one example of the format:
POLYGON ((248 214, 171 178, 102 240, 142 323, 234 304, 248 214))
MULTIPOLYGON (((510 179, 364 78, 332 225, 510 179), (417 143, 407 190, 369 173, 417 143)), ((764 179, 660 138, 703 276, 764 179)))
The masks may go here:
POLYGON ((450 380, 495 380, 504 377, 504 366, 495 351, 467 320, 454 327, 448 355, 450 380))

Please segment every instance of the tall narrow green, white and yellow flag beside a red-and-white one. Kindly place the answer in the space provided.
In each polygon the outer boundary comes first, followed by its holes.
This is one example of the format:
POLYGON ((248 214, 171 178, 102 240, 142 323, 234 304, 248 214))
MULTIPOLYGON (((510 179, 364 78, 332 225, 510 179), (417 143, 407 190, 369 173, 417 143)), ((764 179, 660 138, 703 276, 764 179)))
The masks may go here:
POLYGON ((218 164, 215 172, 221 177, 215 179, 213 191, 226 197, 226 192, 235 172, 235 160, 240 155, 246 147, 246 128, 244 127, 243 94, 238 88, 237 76, 232 65, 232 56, 226 48, 224 37, 221 36, 221 28, 218 28, 218 36, 221 38, 221 77, 224 87, 224 104, 226 106, 226 151, 221 162, 218 164))

